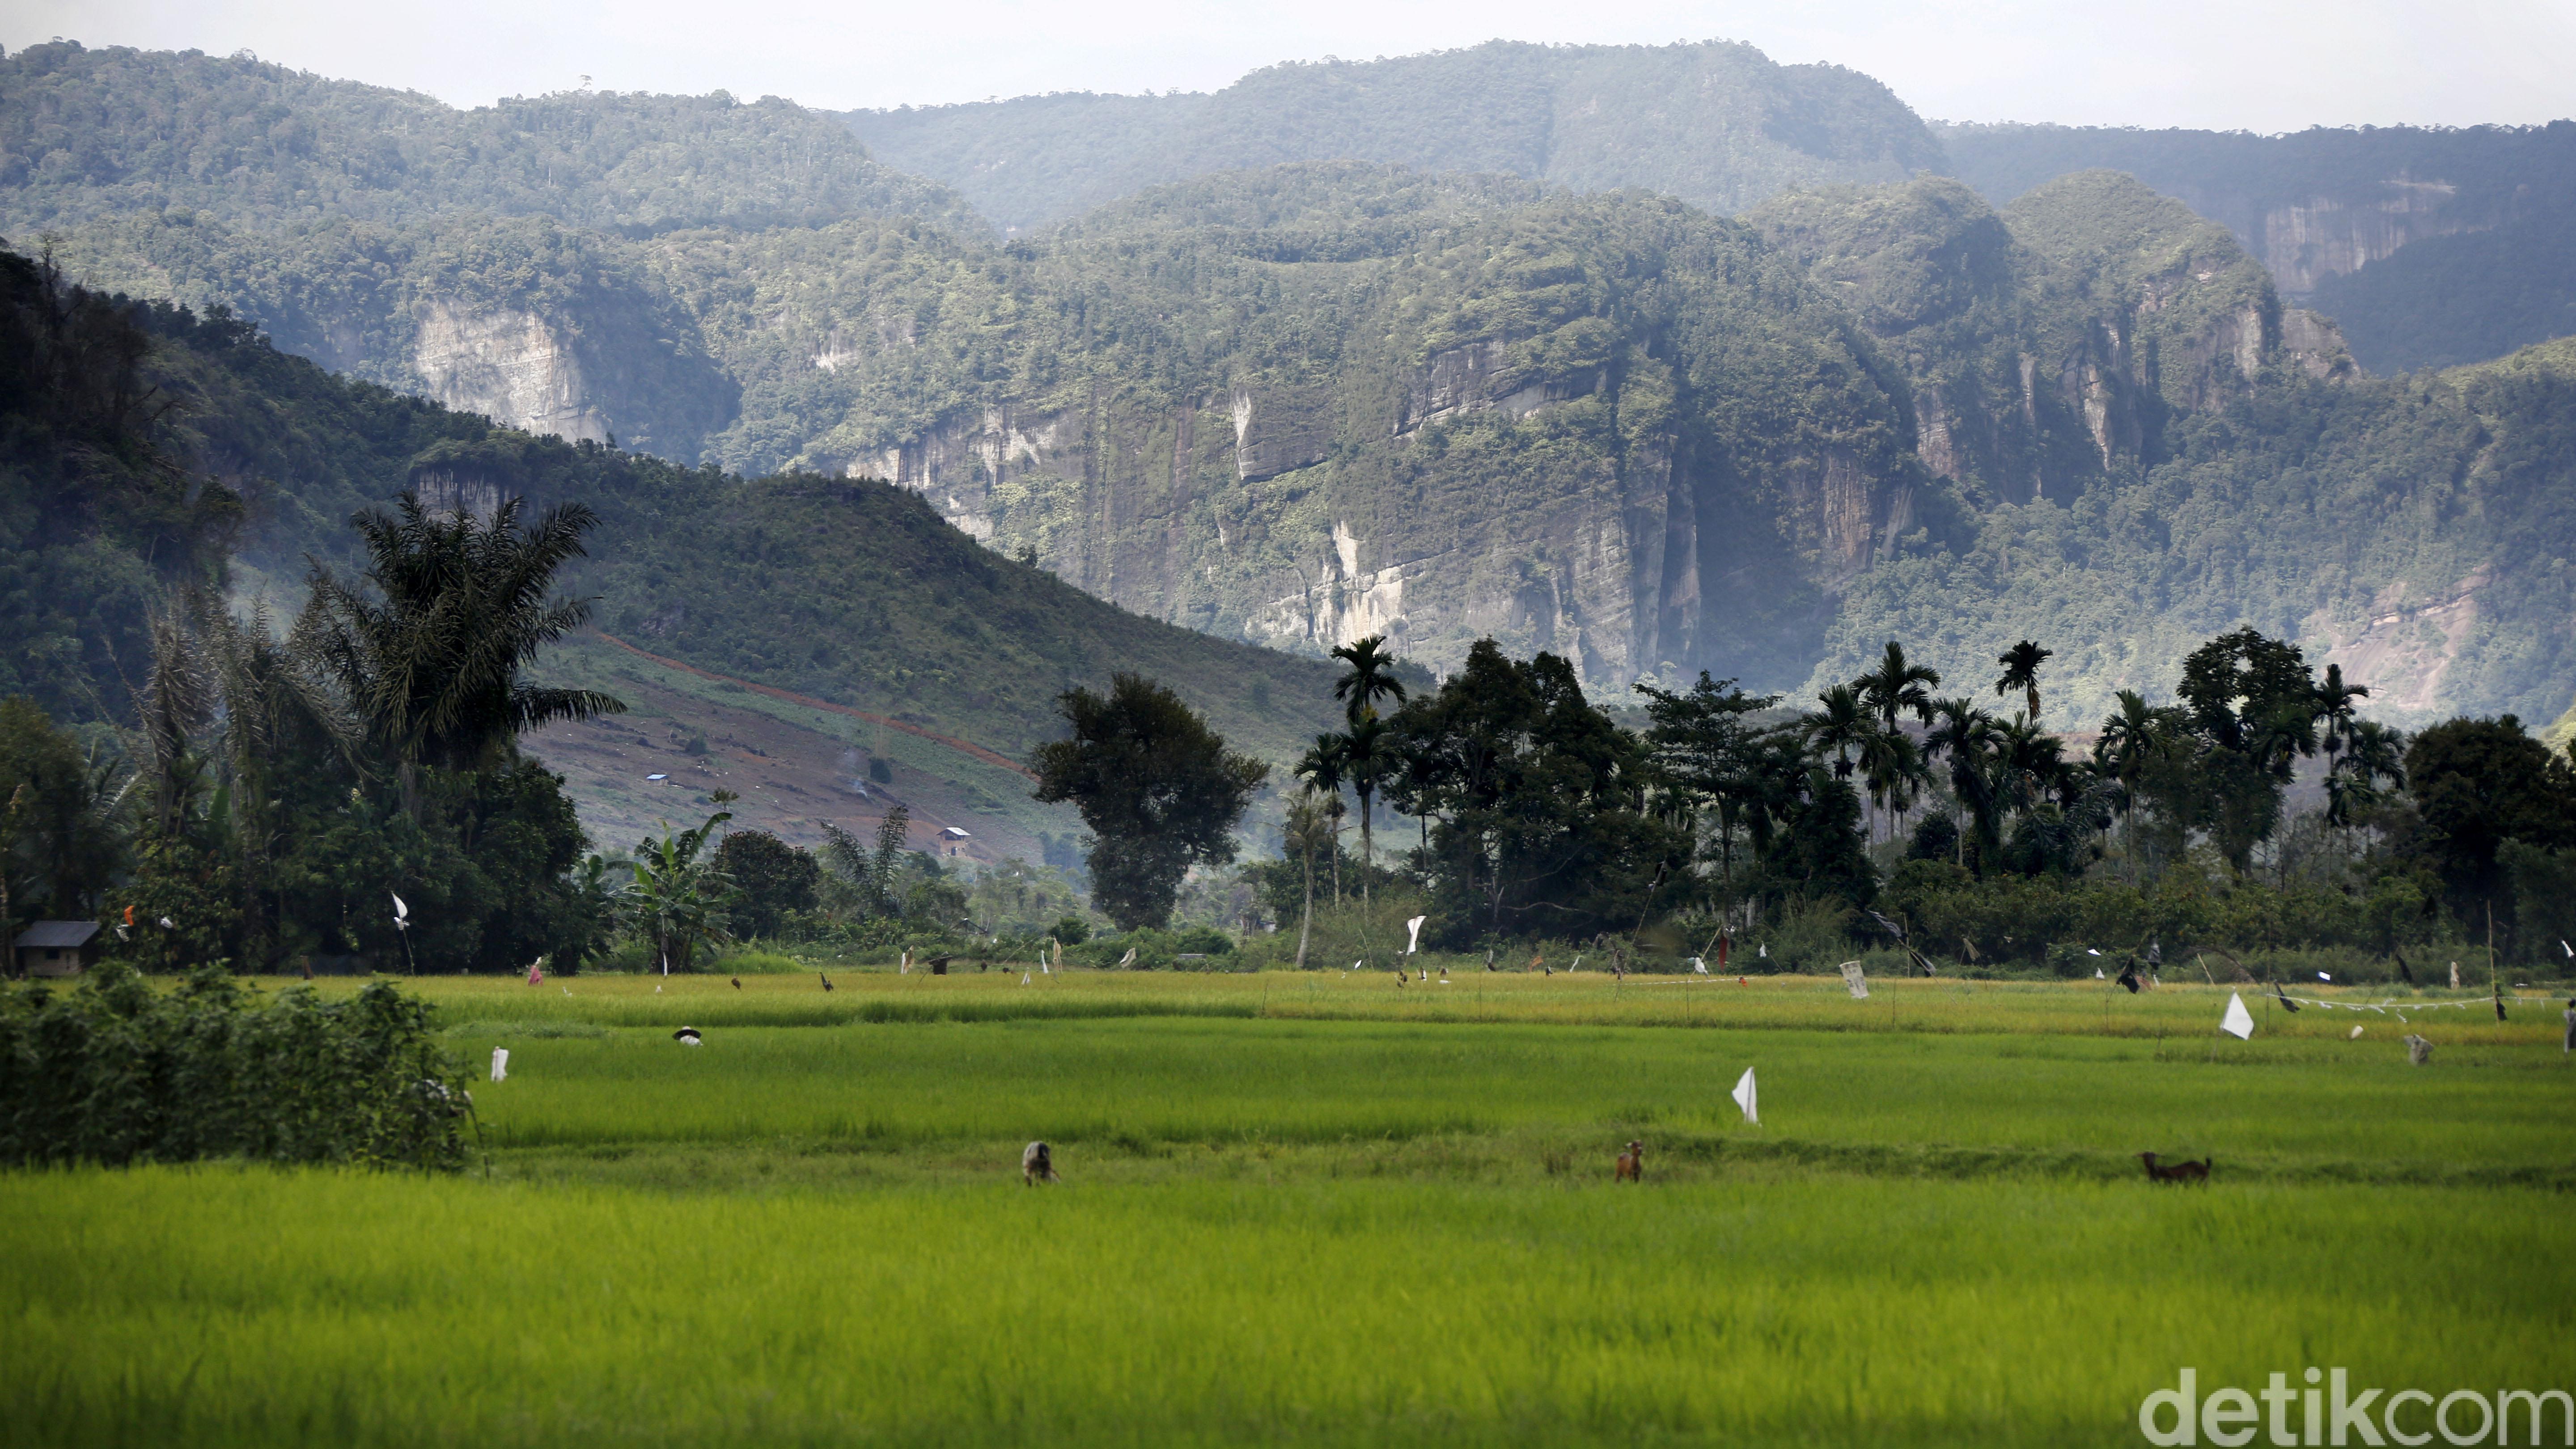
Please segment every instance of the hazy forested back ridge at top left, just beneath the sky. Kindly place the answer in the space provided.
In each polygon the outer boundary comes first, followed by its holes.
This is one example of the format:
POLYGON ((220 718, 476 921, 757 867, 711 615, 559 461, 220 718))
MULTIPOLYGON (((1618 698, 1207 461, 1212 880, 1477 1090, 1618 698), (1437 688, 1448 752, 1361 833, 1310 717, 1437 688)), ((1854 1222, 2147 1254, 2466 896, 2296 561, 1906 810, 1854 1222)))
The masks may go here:
POLYGON ((0 59, 0 227, 185 206, 268 227, 443 211, 603 232, 811 227, 907 211, 969 222, 788 101, 559 90, 456 111, 417 90, 250 57, 26 46, 0 59))

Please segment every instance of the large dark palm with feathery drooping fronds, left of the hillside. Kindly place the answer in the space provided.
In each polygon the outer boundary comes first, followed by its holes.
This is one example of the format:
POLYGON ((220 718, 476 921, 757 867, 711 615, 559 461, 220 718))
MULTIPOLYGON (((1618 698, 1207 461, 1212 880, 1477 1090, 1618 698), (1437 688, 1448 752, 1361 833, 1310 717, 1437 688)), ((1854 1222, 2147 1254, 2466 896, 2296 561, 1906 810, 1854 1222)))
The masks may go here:
POLYGON ((518 676, 590 616, 585 601, 549 598, 598 523, 587 505, 562 503, 526 526, 518 498, 489 521, 430 513, 412 492, 394 508, 355 518, 374 590, 317 565, 299 632, 407 784, 420 768, 492 763, 523 730, 626 709, 518 676))

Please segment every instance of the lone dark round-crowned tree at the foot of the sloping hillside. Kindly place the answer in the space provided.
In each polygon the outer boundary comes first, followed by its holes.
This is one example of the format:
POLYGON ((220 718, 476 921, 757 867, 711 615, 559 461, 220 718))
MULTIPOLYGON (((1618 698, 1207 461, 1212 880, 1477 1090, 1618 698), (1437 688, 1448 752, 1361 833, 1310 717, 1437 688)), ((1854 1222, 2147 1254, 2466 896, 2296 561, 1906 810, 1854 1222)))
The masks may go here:
POLYGON ((1069 740, 1038 745, 1036 797, 1069 799, 1092 828, 1092 905, 1123 931, 1172 918, 1193 864, 1234 859, 1234 822, 1270 766, 1226 750, 1170 688, 1133 673, 1108 694, 1069 688, 1069 740))

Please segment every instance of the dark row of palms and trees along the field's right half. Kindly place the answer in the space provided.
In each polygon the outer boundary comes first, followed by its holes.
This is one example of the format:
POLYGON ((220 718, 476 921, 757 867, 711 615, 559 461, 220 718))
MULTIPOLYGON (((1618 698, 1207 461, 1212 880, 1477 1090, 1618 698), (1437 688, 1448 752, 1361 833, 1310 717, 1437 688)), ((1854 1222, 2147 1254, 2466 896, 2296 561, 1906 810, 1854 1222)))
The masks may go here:
MULTIPOLYGON (((1342 650, 1352 701, 1373 699, 1378 645, 1342 650)), ((2174 704, 2123 694, 2084 748, 2040 724, 2050 657, 2022 639, 1945 696, 1888 642, 1811 709, 1700 676, 1638 686, 1643 727, 1623 727, 1566 660, 1481 642, 1437 691, 1383 719, 1355 704, 1319 737, 1285 859, 1255 882, 1283 926, 1311 918, 1319 861, 1370 879, 1383 802, 1414 830, 1373 879, 1419 892, 1445 946, 1826 920, 1842 949, 1971 967, 2071 969, 2069 944, 2396 964, 2488 928, 2506 959, 2566 954, 2576 755, 2519 719, 2409 737, 2360 717, 2370 691, 2342 668, 2233 629, 2184 660, 2174 704)))

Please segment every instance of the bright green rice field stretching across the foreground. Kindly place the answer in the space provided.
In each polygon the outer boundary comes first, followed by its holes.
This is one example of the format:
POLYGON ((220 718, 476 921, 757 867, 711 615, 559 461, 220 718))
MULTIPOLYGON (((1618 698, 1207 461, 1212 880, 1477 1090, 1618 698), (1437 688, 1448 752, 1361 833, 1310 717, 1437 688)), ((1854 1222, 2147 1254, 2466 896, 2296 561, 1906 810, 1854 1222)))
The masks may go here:
POLYGON ((0 1176, 8 1439, 2143 1444, 2184 1366, 2576 1390, 2537 990, 2236 1042, 2210 985, 835 985, 417 982, 510 1052, 459 1178, 0 1176))

